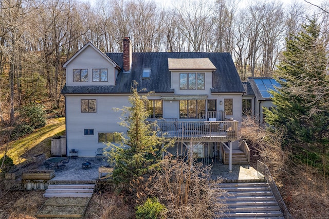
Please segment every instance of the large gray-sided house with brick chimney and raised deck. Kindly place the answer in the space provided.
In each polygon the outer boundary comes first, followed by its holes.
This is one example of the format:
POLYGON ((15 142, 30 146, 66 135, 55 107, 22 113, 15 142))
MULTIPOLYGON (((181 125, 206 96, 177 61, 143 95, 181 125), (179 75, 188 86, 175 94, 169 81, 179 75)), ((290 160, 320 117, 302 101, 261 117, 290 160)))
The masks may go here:
POLYGON ((244 87, 229 53, 132 52, 125 38, 123 53, 104 54, 89 42, 64 67, 67 152, 95 156, 104 142, 118 140, 115 132, 126 132, 113 109, 130 105, 135 80, 153 92, 149 120, 177 139, 172 154, 186 155, 192 142, 200 161, 226 159, 231 167, 229 157, 239 150, 244 87))

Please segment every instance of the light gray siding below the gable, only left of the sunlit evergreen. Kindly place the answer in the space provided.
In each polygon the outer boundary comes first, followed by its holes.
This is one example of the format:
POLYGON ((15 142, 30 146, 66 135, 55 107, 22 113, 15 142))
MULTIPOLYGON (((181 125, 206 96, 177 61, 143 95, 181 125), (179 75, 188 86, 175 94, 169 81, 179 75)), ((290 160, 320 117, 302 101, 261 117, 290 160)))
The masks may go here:
POLYGON ((120 126, 121 112, 114 108, 129 106, 127 95, 66 95, 67 150, 78 150, 79 156, 95 156, 97 148, 106 145, 98 142, 98 133, 126 132, 120 126), (81 113, 81 99, 96 99, 96 113, 81 113), (94 135, 84 135, 84 129, 94 129, 94 135))

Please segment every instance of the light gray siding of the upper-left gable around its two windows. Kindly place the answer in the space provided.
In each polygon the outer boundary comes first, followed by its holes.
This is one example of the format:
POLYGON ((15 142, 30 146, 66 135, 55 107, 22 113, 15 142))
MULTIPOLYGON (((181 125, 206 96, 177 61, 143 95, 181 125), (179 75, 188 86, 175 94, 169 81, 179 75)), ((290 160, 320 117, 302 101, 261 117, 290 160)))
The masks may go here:
POLYGON ((115 67, 108 59, 104 58, 91 46, 85 48, 79 56, 66 66, 66 85, 114 85, 115 67), (107 69, 107 82, 93 82, 93 69, 107 69), (88 69, 88 82, 73 82, 73 69, 88 69))

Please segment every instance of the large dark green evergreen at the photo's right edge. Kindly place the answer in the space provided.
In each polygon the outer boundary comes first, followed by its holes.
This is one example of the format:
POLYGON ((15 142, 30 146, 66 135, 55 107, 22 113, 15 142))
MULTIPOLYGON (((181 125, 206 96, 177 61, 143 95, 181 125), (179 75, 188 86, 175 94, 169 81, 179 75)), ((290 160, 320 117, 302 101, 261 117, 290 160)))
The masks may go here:
POLYGON ((272 92, 270 112, 265 109, 271 127, 284 126, 287 143, 296 153, 327 153, 329 134, 329 93, 326 50, 321 42, 320 28, 310 20, 297 35, 286 40, 286 51, 278 66, 276 78, 281 84, 272 92))

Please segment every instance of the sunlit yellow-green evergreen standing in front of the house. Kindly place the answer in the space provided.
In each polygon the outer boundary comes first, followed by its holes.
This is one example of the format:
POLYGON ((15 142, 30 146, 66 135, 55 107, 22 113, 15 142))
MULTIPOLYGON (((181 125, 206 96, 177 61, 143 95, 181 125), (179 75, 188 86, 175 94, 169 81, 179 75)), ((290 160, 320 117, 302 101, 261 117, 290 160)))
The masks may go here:
POLYGON ((129 97, 132 106, 118 109, 125 116, 121 125, 127 127, 128 131, 126 134, 117 133, 122 139, 119 146, 113 143, 108 145, 111 149, 108 153, 109 162, 115 162, 113 179, 125 186, 130 186, 134 179, 157 168, 162 152, 173 142, 165 142, 165 137, 157 132, 156 123, 145 121, 149 116, 145 109, 149 94, 139 95, 138 84, 133 84, 129 97))

